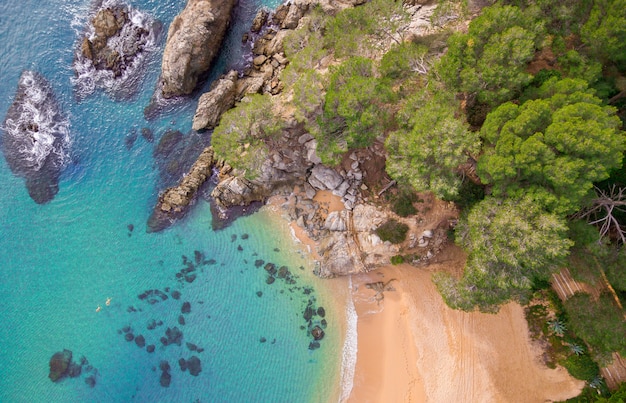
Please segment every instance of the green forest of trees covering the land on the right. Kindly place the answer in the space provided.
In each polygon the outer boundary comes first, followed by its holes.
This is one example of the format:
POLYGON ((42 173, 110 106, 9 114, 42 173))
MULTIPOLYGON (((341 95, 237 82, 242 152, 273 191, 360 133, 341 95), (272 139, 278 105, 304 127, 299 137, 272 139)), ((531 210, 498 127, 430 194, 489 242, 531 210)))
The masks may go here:
MULTIPOLYGON (((610 397, 598 366, 626 357, 626 0, 498 1, 479 12, 440 1, 424 36, 406 35, 408 18, 389 0, 310 12, 285 38, 294 115, 325 164, 384 142, 406 197, 457 203, 454 241, 468 257, 461 278, 435 276, 446 303, 527 306, 554 362, 588 382, 576 401, 619 401, 624 387, 610 397), (563 267, 598 296, 561 302, 550 281, 563 267)), ((215 129, 216 152, 237 168, 253 172, 280 130, 260 107, 268 102, 255 95, 215 129)))

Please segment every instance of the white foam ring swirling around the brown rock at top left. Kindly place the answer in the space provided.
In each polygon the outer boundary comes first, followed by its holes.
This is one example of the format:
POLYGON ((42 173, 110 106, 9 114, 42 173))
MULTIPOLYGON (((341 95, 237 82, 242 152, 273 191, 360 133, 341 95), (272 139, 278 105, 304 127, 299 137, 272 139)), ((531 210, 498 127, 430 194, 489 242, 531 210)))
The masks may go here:
POLYGON ((73 18, 73 26, 82 25, 82 32, 78 33, 79 40, 72 65, 75 77, 71 80, 79 99, 91 95, 97 88, 104 89, 115 98, 126 98, 133 95, 141 79, 141 66, 145 65, 149 54, 158 48, 158 32, 155 28, 155 21, 150 15, 119 0, 105 0, 100 8, 119 6, 123 6, 126 9, 130 23, 125 24, 118 35, 109 38, 107 42, 111 49, 117 51, 123 59, 126 59, 124 62, 125 69, 119 77, 115 77, 110 70, 97 69, 90 59, 83 56, 81 51, 82 38, 95 39, 95 29, 90 21, 98 10, 92 10, 86 19, 80 16, 73 18), (136 30, 138 29, 145 30, 147 35, 137 37, 136 30), (138 39, 139 42, 137 42, 138 39), (139 50, 131 58, 129 49, 135 46, 138 46, 137 49, 139 50))

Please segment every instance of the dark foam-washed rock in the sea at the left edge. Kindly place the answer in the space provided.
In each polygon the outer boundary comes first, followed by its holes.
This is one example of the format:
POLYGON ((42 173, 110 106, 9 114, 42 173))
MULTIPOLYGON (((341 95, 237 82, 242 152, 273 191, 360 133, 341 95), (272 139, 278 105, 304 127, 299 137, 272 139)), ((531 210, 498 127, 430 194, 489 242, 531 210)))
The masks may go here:
POLYGON ((22 73, 2 129, 2 151, 11 171, 26 179, 35 202, 52 200, 68 160, 70 122, 43 76, 22 73))

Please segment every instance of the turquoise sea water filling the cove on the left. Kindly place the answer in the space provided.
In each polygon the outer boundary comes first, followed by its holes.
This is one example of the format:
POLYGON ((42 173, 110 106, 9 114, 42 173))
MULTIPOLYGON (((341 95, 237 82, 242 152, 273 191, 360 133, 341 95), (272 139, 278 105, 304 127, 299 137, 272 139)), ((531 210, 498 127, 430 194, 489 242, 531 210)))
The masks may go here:
MULTIPOLYGON (((165 27, 182 0, 136 0, 128 4, 165 27)), ((52 86, 71 127, 71 162, 59 192, 36 204, 22 178, 0 159, 0 401, 2 402, 296 402, 336 398, 341 356, 338 313, 310 262, 267 214, 211 230, 209 205, 199 200, 184 220, 161 233, 146 222, 159 187, 153 149, 168 129, 191 130, 194 99, 147 121, 159 72, 164 37, 146 61, 139 91, 114 101, 96 91, 77 101, 72 84, 74 47, 89 10, 88 0, 0 2, 0 116, 13 101, 23 70, 34 70, 52 86), (150 128, 155 143, 133 130, 150 128), (243 236, 246 234, 246 236, 243 236), (255 260, 287 265, 296 284, 266 284, 255 260), (194 266, 189 283, 176 274, 194 266), (300 268, 302 266, 302 268, 300 268), (159 290, 168 296, 150 304, 139 296, 159 290), (173 291, 180 299, 172 297, 173 291), (258 292, 261 292, 259 296, 258 292), (111 298, 110 305, 106 305, 111 298), (303 311, 312 301, 326 308, 328 327, 321 347, 309 350, 303 311), (191 312, 182 315, 183 302, 191 312), (100 307, 99 312, 96 312, 100 307), (183 316, 185 324, 179 323, 183 316), (149 330, 154 319, 163 325, 149 330), (126 341, 123 328, 146 344, 148 353, 126 341), (181 346, 164 346, 167 328, 183 332, 181 346), (127 329, 126 329, 127 330, 127 329), (264 339, 265 342, 261 342, 264 339), (187 342, 204 349, 191 351, 187 342), (50 357, 71 350, 95 368, 59 383, 48 379, 50 357), (180 358, 201 360, 202 372, 183 372, 180 358), (159 384, 159 365, 170 365, 171 384, 159 384), (95 376, 90 387, 85 379, 95 376)), ((241 33, 261 4, 239 2, 225 50, 212 77, 241 63, 241 33)), ((165 34, 163 34, 164 36, 165 34)), ((207 86, 209 83, 207 83, 207 86)), ((180 274, 179 274, 180 276, 180 274)), ((314 320, 319 321, 318 316, 314 320)))

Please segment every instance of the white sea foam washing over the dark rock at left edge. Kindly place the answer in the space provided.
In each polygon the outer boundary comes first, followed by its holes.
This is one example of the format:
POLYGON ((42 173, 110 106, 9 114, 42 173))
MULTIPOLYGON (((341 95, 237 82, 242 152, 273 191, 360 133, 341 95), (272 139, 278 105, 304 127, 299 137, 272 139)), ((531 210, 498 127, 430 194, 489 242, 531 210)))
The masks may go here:
POLYGON ((11 144, 11 161, 19 161, 23 171, 38 171, 49 157, 56 168, 62 168, 69 157, 70 122, 61 115, 52 91, 39 75, 25 71, 20 77, 18 95, 3 125, 5 143, 11 144))

